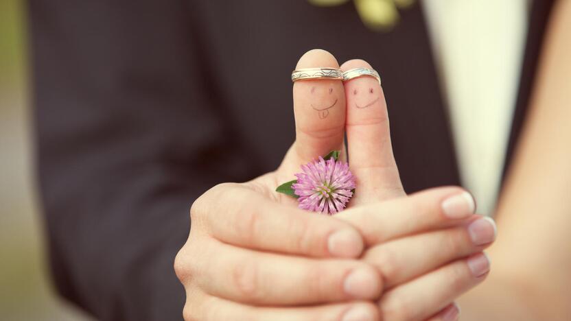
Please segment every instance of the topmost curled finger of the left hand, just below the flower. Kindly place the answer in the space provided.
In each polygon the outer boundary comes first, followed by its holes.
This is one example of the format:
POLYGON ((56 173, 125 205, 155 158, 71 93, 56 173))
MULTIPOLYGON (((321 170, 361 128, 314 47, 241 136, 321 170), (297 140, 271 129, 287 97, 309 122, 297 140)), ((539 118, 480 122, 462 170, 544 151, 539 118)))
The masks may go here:
POLYGON ((356 228, 334 217, 272 202, 238 184, 218 185, 191 209, 192 224, 220 241, 255 250, 310 257, 358 257, 356 228))

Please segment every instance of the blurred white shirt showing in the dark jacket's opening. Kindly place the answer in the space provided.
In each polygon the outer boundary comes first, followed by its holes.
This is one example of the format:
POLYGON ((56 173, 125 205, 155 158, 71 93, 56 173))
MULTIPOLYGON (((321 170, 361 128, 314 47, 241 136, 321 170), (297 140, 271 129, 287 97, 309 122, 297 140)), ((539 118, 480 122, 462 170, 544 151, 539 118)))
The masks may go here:
POLYGON ((496 204, 520 78, 528 1, 423 0, 461 180, 496 204))

